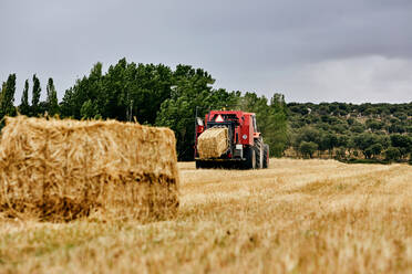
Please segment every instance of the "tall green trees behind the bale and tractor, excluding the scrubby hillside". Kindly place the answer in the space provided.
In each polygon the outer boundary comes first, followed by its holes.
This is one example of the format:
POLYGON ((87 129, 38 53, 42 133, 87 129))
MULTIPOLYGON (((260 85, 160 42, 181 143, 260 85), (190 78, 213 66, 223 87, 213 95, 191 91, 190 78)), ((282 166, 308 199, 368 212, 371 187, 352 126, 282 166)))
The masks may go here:
POLYGON ((281 156, 287 145, 287 106, 280 94, 268 99, 255 93, 227 92, 214 88, 215 80, 203 68, 177 65, 175 70, 158 64, 128 63, 125 59, 111 65, 106 73, 102 64, 93 65, 89 75, 79 78, 58 102, 52 78, 47 84, 47 99, 40 102, 41 85, 27 80, 21 103, 14 106, 16 74, 10 74, 0 92, 0 117, 54 116, 74 119, 133 120, 154 126, 167 126, 175 131, 181 160, 193 159, 194 118, 208 109, 234 108, 255 112, 258 127, 271 146, 272 156, 281 156))

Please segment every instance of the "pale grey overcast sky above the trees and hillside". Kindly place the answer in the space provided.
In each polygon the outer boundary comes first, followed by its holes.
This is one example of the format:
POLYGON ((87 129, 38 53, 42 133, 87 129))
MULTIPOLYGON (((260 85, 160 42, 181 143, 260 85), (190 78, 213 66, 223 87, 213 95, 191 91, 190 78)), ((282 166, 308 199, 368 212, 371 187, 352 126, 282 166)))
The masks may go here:
POLYGON ((412 0, 0 0, 0 34, 17 103, 33 73, 62 98, 121 57, 287 102, 412 101, 412 0))

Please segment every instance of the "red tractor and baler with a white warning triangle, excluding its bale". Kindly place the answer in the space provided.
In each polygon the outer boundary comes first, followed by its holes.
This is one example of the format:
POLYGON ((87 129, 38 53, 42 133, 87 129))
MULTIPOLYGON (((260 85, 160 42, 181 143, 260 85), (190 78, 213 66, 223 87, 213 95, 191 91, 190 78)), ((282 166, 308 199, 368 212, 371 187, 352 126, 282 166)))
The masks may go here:
POLYGON ((205 120, 197 118, 195 161, 196 168, 267 168, 269 146, 264 144, 261 134, 257 129, 256 115, 240 110, 210 110, 206 114, 205 120), (215 127, 227 127, 227 150, 217 158, 200 158, 197 147, 198 138, 203 133, 215 127))

